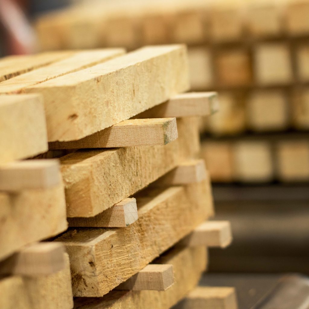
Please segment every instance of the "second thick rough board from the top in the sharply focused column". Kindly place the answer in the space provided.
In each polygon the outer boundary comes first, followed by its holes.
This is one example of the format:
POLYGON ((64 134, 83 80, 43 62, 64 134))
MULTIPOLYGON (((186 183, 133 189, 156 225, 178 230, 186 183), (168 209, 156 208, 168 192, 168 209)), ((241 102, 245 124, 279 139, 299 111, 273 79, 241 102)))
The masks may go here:
POLYGON ((177 128, 178 139, 165 146, 80 150, 62 157, 67 216, 93 217, 184 160, 195 158, 199 151, 196 118, 178 119, 177 128))

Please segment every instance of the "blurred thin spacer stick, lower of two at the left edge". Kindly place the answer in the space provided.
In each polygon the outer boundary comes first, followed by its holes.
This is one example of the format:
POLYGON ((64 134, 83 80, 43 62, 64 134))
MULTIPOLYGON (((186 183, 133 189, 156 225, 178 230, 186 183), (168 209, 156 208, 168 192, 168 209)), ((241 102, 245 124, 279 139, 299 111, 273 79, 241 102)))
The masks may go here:
POLYGON ((40 276, 65 268, 64 246, 61 243, 34 243, 0 262, 1 274, 40 276))

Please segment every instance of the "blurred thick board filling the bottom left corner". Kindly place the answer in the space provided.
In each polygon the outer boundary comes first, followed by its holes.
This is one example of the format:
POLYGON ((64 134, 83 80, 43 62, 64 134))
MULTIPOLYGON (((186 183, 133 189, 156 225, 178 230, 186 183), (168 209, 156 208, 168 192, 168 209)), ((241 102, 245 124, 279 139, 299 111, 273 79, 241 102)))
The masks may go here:
POLYGON ((69 257, 64 253, 65 268, 38 277, 10 276, 0 279, 0 307, 15 309, 71 309, 69 257))

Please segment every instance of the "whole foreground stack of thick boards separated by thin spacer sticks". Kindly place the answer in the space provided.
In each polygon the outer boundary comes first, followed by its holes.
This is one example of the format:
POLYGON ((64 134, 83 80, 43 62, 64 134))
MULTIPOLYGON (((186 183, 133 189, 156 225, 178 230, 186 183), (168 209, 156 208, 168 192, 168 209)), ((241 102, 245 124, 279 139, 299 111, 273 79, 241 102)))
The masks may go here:
POLYGON ((237 307, 194 290, 231 228, 207 221, 217 95, 184 93, 184 45, 12 56, 0 77, 1 308, 237 307))

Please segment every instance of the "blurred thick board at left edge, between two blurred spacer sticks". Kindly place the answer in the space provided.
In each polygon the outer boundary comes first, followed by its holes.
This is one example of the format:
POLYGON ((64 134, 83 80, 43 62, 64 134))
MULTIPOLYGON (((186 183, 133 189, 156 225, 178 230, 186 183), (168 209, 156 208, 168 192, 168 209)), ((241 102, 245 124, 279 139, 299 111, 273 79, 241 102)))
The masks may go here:
POLYGON ((28 243, 67 229, 63 184, 18 193, 0 192, 0 260, 28 243))

